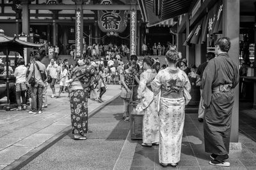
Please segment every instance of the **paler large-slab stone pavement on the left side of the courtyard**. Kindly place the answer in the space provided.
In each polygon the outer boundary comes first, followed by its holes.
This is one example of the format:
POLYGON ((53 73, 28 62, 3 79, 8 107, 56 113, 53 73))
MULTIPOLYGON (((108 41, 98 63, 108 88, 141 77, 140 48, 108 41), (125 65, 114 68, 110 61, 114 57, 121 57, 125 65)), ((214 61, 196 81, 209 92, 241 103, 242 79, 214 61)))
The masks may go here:
MULTIPOLYGON (((89 99, 88 117, 119 94, 120 85, 108 85, 102 97, 104 103, 89 99)), ((68 94, 62 93, 60 98, 52 99, 51 89, 48 89, 47 96, 49 105, 40 115, 29 114, 28 111, 0 111, 0 169, 15 164, 23 155, 38 151, 60 132, 71 129, 68 94)))

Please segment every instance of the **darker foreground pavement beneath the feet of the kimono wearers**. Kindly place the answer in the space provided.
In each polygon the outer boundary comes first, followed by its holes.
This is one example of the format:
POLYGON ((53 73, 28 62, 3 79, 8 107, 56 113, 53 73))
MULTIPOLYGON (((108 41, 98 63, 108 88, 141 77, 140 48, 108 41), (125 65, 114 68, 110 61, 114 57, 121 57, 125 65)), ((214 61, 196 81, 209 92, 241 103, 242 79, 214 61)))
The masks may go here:
POLYGON ((230 167, 209 165, 210 154, 204 152, 203 124, 196 114, 186 114, 177 168, 159 166, 158 146, 147 148, 140 145, 141 140, 131 140, 129 123, 121 117, 119 98, 88 120, 86 141, 74 141, 68 134, 22 169, 256 169, 255 110, 240 110, 239 142, 243 149, 230 150, 230 167))

